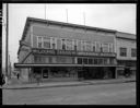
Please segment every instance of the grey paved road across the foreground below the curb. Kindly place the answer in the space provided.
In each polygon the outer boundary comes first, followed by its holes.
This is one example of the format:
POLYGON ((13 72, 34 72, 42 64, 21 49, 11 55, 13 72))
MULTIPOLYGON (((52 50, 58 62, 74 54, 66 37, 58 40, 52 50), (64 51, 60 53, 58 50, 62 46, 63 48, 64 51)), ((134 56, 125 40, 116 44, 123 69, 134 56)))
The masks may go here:
POLYGON ((3 89, 3 105, 136 105, 136 83, 3 89))

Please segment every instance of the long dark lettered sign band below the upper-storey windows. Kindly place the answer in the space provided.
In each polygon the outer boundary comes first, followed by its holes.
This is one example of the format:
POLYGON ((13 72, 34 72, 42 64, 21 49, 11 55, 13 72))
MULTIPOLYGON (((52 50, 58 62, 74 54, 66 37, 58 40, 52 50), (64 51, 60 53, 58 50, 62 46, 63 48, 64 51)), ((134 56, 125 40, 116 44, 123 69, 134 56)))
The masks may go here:
POLYGON ((54 56, 101 56, 115 57, 113 52, 92 52, 92 51, 74 51, 74 50, 54 50, 54 49, 32 49, 33 53, 54 55, 54 56))

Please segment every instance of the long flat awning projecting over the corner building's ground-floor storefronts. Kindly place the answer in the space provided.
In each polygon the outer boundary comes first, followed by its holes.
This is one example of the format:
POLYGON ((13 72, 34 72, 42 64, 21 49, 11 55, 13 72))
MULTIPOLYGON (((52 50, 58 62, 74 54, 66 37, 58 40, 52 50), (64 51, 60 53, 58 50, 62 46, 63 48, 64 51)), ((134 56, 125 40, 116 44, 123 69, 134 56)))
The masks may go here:
POLYGON ((45 64, 45 63, 14 63, 15 68, 34 68, 34 67, 117 67, 115 64, 45 64))

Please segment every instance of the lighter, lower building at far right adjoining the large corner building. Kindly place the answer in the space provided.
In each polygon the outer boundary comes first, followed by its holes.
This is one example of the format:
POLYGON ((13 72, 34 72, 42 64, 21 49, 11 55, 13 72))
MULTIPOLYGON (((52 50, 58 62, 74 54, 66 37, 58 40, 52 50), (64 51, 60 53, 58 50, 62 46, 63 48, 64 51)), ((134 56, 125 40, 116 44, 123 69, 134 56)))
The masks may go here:
POLYGON ((122 76, 125 69, 130 71, 131 75, 136 74, 137 70, 137 43, 136 35, 128 33, 116 33, 116 53, 118 76, 122 76))

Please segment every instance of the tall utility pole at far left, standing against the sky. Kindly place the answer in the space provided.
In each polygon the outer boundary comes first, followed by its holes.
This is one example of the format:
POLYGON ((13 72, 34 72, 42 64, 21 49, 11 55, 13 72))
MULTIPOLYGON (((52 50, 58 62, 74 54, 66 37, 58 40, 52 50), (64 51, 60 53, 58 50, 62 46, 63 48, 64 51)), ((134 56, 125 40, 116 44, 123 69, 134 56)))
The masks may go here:
POLYGON ((9 58, 9 4, 7 3, 7 36, 5 36, 5 76, 8 77, 8 58, 9 58))

